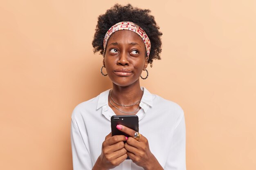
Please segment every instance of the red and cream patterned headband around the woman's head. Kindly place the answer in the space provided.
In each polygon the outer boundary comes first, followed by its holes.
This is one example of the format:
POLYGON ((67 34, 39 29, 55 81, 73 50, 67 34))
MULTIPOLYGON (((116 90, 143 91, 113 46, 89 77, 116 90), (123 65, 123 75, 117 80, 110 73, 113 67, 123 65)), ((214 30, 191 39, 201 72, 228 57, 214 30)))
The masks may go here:
POLYGON ((149 58, 151 43, 148 38, 148 35, 137 24, 135 24, 133 22, 129 22, 129 21, 118 22, 117 24, 111 26, 111 28, 107 31, 107 33, 105 34, 104 40, 103 40, 104 54, 106 51, 108 39, 110 38, 112 33, 114 33, 115 31, 120 31, 120 30, 130 30, 130 31, 137 33, 142 38, 143 42, 145 43, 147 56, 149 58))

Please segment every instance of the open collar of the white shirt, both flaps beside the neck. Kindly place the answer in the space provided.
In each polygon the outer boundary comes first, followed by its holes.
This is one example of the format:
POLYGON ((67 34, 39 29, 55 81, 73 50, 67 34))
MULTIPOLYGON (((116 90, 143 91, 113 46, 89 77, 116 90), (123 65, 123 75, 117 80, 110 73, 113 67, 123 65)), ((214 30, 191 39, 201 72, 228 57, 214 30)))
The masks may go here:
MULTIPOLYGON (((141 108, 143 108, 146 112, 146 110, 148 109, 148 106, 152 107, 152 105, 153 105, 153 95, 145 87, 141 87, 141 90, 144 91, 144 93, 143 93, 143 96, 141 98, 141 104, 139 106, 141 106, 141 108), (144 103, 148 106, 145 106, 142 103, 144 103)), ((102 106, 108 105, 109 91, 110 91, 110 89, 108 89, 107 91, 102 92, 99 95, 97 108, 96 108, 97 110, 99 108, 101 108, 102 106)))

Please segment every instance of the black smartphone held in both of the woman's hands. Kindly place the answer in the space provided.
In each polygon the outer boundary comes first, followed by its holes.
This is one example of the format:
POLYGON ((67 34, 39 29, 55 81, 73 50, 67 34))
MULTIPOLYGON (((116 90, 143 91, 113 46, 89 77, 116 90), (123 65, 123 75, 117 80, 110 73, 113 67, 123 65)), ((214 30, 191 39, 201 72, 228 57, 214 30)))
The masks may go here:
MULTIPOLYGON (((112 136, 124 135, 126 137, 129 137, 129 135, 127 135, 126 133, 118 130, 117 125, 124 125, 128 128, 135 130, 136 132, 139 132, 139 118, 137 115, 114 115, 111 117, 112 136)), ((126 141, 124 141, 124 143, 126 143, 126 141)), ((130 159, 130 158, 127 157, 126 159, 130 159)))

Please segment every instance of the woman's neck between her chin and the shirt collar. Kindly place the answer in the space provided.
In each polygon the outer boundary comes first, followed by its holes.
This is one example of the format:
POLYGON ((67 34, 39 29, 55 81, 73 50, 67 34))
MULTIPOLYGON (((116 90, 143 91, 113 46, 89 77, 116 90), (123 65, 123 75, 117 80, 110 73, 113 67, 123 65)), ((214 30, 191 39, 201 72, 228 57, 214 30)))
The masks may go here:
POLYGON ((118 104, 129 105, 139 101, 143 95, 143 91, 141 91, 139 81, 138 83, 125 87, 113 83, 111 95, 118 104))

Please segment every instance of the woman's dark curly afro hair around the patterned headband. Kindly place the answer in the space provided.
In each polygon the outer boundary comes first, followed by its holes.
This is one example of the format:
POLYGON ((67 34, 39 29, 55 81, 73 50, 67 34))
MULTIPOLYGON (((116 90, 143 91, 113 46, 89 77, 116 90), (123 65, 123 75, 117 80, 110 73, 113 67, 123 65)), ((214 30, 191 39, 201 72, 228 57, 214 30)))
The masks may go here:
POLYGON ((160 53, 162 51, 162 33, 159 31, 159 26, 155 22, 154 16, 150 15, 149 9, 140 9, 132 7, 131 4, 122 6, 115 4, 108 9, 105 14, 99 15, 98 23, 95 29, 92 46, 94 53, 100 52, 103 55, 103 39, 108 29, 114 24, 121 21, 130 21, 139 25, 148 35, 151 43, 150 55, 148 63, 152 67, 153 59, 161 60, 160 53))

